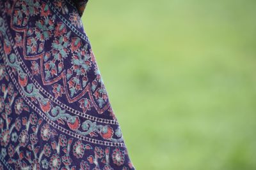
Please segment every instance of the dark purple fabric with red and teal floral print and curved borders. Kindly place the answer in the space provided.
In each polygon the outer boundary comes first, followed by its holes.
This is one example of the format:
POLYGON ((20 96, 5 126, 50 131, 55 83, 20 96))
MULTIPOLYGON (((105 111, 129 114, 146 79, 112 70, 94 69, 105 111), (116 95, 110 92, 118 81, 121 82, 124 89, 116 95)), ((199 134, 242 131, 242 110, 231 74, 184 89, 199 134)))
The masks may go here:
POLYGON ((81 11, 0 1, 0 169, 134 169, 81 11))

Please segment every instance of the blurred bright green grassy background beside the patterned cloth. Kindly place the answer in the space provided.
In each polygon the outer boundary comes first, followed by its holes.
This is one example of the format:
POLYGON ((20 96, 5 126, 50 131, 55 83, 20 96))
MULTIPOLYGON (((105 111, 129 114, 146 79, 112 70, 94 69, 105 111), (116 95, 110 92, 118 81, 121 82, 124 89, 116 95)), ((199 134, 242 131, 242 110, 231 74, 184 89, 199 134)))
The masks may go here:
POLYGON ((84 29, 136 169, 256 169, 255 9, 89 0, 84 29))

